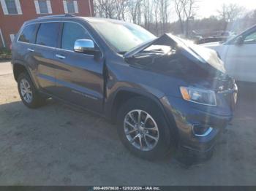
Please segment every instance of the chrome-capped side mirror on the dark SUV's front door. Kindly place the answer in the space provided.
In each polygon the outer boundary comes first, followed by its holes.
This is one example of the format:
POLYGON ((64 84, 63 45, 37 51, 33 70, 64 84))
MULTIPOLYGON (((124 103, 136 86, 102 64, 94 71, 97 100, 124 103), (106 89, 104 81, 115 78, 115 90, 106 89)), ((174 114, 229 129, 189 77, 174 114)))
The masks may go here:
POLYGON ((75 52, 81 52, 89 55, 96 55, 99 50, 95 49, 94 42, 90 39, 78 39, 74 45, 75 52))

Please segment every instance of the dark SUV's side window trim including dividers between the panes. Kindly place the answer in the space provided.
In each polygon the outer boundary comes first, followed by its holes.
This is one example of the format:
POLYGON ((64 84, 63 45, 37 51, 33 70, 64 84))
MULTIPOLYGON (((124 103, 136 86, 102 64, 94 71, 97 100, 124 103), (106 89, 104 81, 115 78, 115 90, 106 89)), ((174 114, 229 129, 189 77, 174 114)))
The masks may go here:
MULTIPOLYGON (((42 22, 36 22, 36 23, 25 24, 25 25, 21 28, 19 34, 17 35, 18 38, 17 38, 17 40, 16 40, 16 43, 30 44, 30 45, 34 45, 34 46, 38 46, 38 47, 48 47, 48 46, 45 46, 45 45, 36 44, 37 32, 38 32, 38 29, 39 29, 39 25, 42 24, 42 23, 77 23, 78 25, 82 26, 83 29, 85 29, 85 30, 87 31, 87 33, 89 34, 89 36, 91 37, 91 39, 93 40, 93 42, 94 42, 95 44, 97 44, 97 47, 99 47, 99 50, 100 50, 100 52, 101 52, 101 54, 102 54, 101 58, 104 57, 104 53, 103 53, 103 51, 102 51, 102 47, 99 46, 99 44, 96 42, 96 40, 94 39, 94 37, 93 37, 93 36, 89 33, 89 31, 87 30, 87 28, 85 28, 83 25, 81 25, 81 24, 78 23, 78 22, 69 21, 69 20, 42 21, 42 22), (21 41, 19 41, 20 35, 23 33, 23 31, 24 31, 24 29, 26 28, 26 26, 30 26, 30 25, 38 25, 38 26, 37 26, 37 29, 36 29, 36 35, 35 35, 34 43, 21 42, 21 41)), ((59 40, 58 40, 58 42, 59 42, 59 40)), ((54 49, 54 50, 64 50, 64 49, 61 49, 61 48, 59 47, 59 44, 57 44, 57 47, 48 47, 48 48, 54 49)), ((64 50, 64 51, 78 53, 78 52, 75 52, 74 50, 64 50)), ((78 54, 80 54, 80 53, 78 53, 78 54)), ((83 54, 84 54, 84 53, 83 53, 83 54)), ((89 54, 84 54, 84 55, 89 55, 89 54)), ((91 55, 91 56, 94 56, 94 55, 91 55)))

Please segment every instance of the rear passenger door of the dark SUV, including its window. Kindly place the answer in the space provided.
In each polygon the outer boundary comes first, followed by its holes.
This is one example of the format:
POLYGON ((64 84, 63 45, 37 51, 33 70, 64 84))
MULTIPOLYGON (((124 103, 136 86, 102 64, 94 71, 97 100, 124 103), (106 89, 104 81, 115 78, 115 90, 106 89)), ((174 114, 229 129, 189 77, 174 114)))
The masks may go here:
POLYGON ((53 93, 55 87, 55 55, 61 23, 40 23, 34 46, 34 71, 42 90, 53 93))

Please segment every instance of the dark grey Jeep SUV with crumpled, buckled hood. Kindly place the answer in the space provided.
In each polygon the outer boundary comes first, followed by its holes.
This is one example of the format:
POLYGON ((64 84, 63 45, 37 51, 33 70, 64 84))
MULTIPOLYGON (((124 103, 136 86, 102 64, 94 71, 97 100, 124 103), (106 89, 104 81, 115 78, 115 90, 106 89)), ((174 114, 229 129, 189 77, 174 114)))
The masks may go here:
POLYGON ((12 65, 23 104, 52 97, 96 112, 146 159, 211 153, 236 104, 236 83, 214 50, 118 20, 30 20, 12 42, 12 65))

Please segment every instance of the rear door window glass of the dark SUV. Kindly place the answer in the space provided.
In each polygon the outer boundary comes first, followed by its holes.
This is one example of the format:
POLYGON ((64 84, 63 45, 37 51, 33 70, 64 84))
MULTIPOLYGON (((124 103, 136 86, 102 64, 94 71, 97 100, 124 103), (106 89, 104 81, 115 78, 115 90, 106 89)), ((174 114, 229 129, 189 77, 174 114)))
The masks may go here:
POLYGON ((37 44, 57 47, 60 23, 42 23, 37 32, 37 44))

